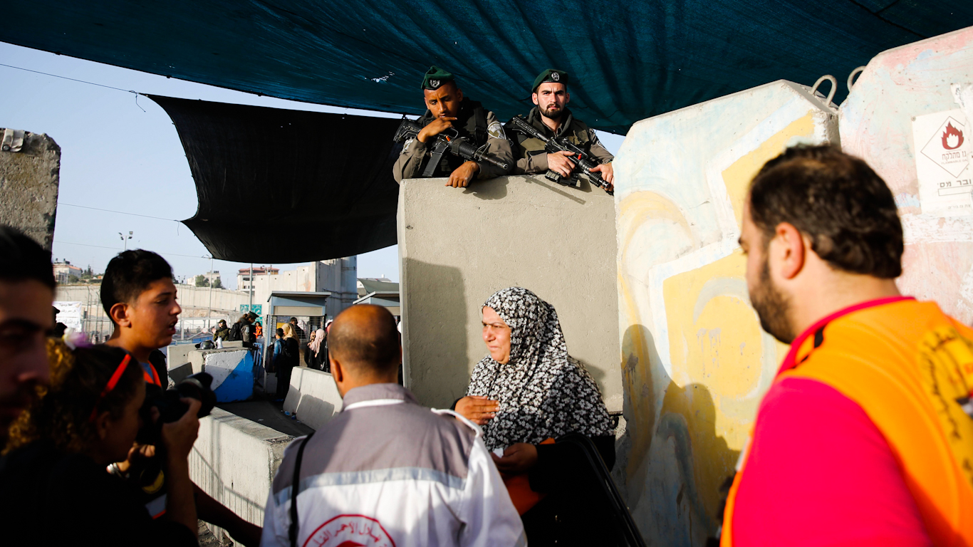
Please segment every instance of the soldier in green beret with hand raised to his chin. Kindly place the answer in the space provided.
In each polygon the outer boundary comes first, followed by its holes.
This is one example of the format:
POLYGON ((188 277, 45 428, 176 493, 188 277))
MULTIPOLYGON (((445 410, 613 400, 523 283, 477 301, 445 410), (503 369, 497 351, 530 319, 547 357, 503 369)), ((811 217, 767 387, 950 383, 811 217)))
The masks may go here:
MULTIPOLYGON (((422 78, 422 94, 427 108, 425 115, 416 122, 422 130, 414 139, 407 140, 402 147, 399 160, 392 169, 396 182, 413 178, 422 172, 430 157, 428 145, 432 139, 447 128, 456 128, 459 136, 468 139, 475 146, 486 146, 486 151, 500 160, 513 163, 510 141, 503 132, 503 126, 496 116, 482 104, 463 96, 449 72, 430 66, 422 78)), ((450 177, 446 186, 463 188, 473 177, 493 178, 507 174, 506 171, 487 163, 463 161, 452 154, 445 154, 433 176, 450 177)))

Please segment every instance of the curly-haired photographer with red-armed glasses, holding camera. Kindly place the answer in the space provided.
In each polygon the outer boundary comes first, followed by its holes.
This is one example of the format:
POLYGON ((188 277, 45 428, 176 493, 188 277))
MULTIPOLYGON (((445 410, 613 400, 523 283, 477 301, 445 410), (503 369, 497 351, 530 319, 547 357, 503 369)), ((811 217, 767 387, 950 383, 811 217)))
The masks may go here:
POLYGON ((145 371, 125 349, 48 342, 53 382, 11 427, 0 523, 9 545, 197 545, 189 453, 199 402, 162 425, 168 493, 156 520, 138 489, 105 471, 142 425, 145 371))

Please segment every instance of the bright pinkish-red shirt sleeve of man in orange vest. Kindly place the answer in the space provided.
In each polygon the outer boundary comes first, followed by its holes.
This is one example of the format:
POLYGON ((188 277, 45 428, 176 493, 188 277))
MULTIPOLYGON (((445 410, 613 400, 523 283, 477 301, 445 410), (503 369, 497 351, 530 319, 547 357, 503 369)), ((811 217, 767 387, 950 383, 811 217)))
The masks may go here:
POLYGON ((932 545, 882 433, 856 403, 785 378, 761 402, 733 515, 735 547, 932 545))

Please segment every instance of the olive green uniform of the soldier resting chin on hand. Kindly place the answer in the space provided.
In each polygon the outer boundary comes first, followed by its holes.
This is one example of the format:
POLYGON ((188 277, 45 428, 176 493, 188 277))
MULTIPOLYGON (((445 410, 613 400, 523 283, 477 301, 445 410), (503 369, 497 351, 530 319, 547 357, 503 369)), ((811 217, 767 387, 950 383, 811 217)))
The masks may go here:
MULTIPOLYGON (((428 110, 425 115, 416 120, 423 128, 434 120, 432 113, 428 110)), ((496 116, 486 110, 479 102, 463 98, 459 105, 459 114, 452 123, 452 127, 459 131, 459 136, 469 139, 478 148, 486 144, 486 152, 496 156, 507 164, 513 164, 514 153, 510 141, 507 140, 503 131, 503 126, 497 121, 496 116)), ((415 178, 422 174, 425 164, 429 161, 432 152, 434 139, 430 138, 426 142, 419 142, 418 139, 410 139, 405 142, 399 159, 395 162, 392 169, 392 176, 395 181, 402 183, 403 179, 415 178)), ((447 152, 443 154, 443 159, 436 170, 434 177, 448 177, 459 165, 466 162, 458 156, 447 152)), ((493 178, 507 174, 507 171, 500 169, 486 162, 478 163, 480 170, 477 171, 477 179, 493 178)))

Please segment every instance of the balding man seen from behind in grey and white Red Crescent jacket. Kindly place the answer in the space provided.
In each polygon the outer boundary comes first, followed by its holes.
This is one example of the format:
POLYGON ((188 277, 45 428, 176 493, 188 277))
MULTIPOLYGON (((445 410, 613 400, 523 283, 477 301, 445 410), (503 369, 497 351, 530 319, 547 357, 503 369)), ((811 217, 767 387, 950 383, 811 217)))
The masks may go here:
POLYGON ((352 306, 332 323, 329 341, 344 406, 284 453, 262 545, 359 545, 362 529, 375 545, 523 545, 479 427, 441 416, 458 416, 452 411, 430 412, 396 383, 402 347, 392 314, 352 306))

